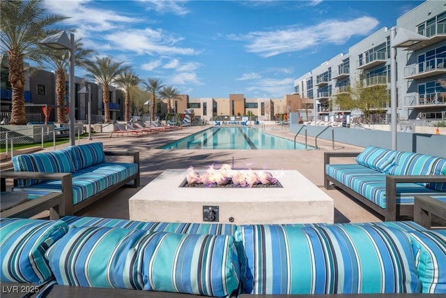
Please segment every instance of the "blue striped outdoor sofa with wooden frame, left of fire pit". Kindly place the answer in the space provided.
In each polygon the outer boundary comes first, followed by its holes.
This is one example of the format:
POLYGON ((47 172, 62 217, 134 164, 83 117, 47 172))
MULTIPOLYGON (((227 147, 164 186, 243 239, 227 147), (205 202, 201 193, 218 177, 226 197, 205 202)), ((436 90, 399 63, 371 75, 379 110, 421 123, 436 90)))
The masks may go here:
POLYGON ((13 191, 33 196, 63 193, 66 215, 132 181, 130 186, 139 187, 139 151, 105 151, 102 142, 20 154, 13 157, 13 165, 13 171, 1 172, 2 188, 6 178, 13 178, 13 191), (132 161, 107 161, 107 156, 128 156, 132 161))

